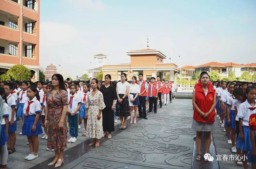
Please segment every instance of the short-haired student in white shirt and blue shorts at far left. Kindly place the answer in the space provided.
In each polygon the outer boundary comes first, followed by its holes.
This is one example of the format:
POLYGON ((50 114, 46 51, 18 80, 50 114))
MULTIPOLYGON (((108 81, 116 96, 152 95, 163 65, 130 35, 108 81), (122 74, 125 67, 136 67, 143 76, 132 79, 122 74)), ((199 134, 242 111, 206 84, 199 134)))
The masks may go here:
POLYGON ((8 135, 9 139, 7 141, 7 147, 8 147, 8 153, 12 154, 15 152, 15 142, 16 142, 16 134, 15 131, 17 129, 17 121, 16 121, 16 115, 15 115, 15 107, 16 107, 16 101, 15 98, 12 96, 12 84, 11 83, 5 83, 4 84, 4 90, 6 94, 6 100, 8 104, 7 111, 9 113, 9 122, 8 122, 8 135))

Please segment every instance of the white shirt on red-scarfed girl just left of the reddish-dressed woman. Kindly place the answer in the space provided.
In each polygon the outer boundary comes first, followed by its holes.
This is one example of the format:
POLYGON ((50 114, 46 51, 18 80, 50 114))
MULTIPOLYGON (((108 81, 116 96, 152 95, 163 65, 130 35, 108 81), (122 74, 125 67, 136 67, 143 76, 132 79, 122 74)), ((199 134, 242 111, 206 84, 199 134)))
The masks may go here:
MULTIPOLYGON (((28 111, 29 116, 40 113, 42 108, 40 102, 36 99, 36 97, 34 97, 31 101, 33 101, 33 103, 29 105, 29 111, 28 111)), ((29 98, 26 100, 23 108, 23 114, 25 114, 25 116, 28 116, 26 112, 28 108, 28 102, 30 102, 29 98)))

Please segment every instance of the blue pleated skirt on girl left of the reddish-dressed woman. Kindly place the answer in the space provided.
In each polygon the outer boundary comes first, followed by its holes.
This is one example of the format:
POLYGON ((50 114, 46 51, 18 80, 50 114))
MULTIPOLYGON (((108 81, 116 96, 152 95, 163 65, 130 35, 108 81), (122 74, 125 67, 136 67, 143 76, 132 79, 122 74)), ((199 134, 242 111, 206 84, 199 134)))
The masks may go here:
POLYGON ((34 124, 35 119, 36 119, 36 115, 25 116, 25 118, 23 119, 24 124, 22 127, 22 135, 31 136, 31 135, 39 135, 43 133, 39 120, 36 123, 36 131, 32 132, 32 126, 34 124))

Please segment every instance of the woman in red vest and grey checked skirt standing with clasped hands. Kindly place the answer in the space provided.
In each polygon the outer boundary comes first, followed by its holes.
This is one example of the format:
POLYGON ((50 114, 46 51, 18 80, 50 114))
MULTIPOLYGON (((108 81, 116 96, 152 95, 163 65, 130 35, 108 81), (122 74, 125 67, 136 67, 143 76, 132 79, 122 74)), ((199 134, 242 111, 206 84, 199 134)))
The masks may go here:
MULTIPOLYGON (((194 89, 192 103, 194 109, 192 129, 196 130, 196 146, 197 155, 196 161, 201 160, 201 137, 205 135, 205 153, 209 153, 211 145, 211 131, 215 130, 214 115, 216 105, 215 90, 208 86, 210 76, 208 73, 203 73, 200 76, 201 85, 194 89)), ((208 161, 208 159, 204 159, 208 161)))

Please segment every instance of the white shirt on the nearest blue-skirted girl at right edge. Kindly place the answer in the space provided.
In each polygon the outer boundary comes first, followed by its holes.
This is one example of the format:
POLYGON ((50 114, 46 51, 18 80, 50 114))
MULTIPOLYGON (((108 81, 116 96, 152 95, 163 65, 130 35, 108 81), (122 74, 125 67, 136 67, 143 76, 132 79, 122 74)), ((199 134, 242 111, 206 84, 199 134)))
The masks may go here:
MULTIPOLYGON (((248 103, 246 99, 244 103, 240 104, 240 107, 237 111, 236 117, 243 119, 243 126, 249 126, 249 118, 250 118, 250 115, 252 114, 252 110, 249 109, 250 107, 252 106, 248 103)), ((256 107, 256 103, 254 107, 256 107)))

